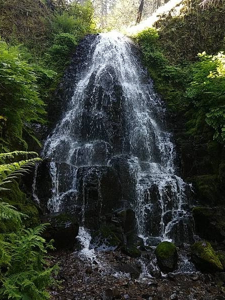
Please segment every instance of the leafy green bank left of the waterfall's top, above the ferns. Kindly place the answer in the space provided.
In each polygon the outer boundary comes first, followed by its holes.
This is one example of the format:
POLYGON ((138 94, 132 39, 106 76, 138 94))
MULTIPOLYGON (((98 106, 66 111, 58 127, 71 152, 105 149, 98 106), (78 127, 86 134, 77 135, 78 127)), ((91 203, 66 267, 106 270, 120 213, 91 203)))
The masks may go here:
POLYGON ((0 14, 0 152, 26 150, 24 132, 33 136, 30 124, 46 122, 71 54, 94 32, 93 8, 90 1, 52 10, 45 1, 3 0, 0 14))

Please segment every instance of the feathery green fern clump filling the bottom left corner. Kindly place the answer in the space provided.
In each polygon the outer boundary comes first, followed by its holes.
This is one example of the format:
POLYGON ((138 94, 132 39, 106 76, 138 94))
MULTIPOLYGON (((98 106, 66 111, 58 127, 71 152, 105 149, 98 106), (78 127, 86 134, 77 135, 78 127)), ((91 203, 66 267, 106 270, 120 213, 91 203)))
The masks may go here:
POLYGON ((11 299, 49 299, 46 287, 53 283, 52 274, 58 267, 47 268, 44 259, 47 248, 53 248, 52 242, 46 243, 41 237, 46 225, 0 234, 0 265, 7 266, 0 295, 11 299))

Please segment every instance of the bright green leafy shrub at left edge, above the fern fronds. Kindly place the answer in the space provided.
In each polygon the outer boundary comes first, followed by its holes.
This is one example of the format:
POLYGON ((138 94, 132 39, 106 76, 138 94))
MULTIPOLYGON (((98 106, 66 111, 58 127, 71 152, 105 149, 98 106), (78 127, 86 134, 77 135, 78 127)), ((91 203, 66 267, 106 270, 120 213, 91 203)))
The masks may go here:
POLYGON ((0 40, 0 111, 6 123, 0 132, 0 152, 5 145, 26 149, 22 139, 24 123, 43 122, 44 103, 36 79, 33 67, 21 59, 18 47, 0 40))

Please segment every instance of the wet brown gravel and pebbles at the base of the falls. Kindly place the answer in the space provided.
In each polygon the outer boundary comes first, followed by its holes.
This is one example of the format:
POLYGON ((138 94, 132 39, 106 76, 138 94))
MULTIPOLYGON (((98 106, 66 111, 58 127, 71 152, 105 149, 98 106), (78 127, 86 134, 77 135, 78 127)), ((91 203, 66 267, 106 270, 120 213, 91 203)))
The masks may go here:
MULTIPOLYGON (((105 265, 138 263, 119 251, 101 252, 105 265)), ((54 300, 222 300, 223 287, 215 283, 215 275, 198 272, 169 274, 159 279, 131 279, 129 274, 119 276, 98 262, 83 259, 77 252, 52 253, 50 263, 60 266, 57 279, 59 286, 50 290, 54 300)), ((222 274, 222 273, 220 273, 222 274)))

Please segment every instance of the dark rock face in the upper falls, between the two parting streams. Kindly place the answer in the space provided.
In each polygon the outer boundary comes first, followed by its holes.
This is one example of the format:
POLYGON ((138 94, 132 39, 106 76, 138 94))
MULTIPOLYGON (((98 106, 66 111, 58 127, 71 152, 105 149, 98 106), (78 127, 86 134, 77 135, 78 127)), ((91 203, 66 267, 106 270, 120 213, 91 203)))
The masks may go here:
POLYGON ((121 136, 124 130, 122 87, 111 66, 106 66, 102 70, 101 76, 98 77, 98 84, 95 79, 96 72, 93 72, 89 77, 83 98, 80 137, 86 141, 106 140, 118 151, 121 149, 121 136))

